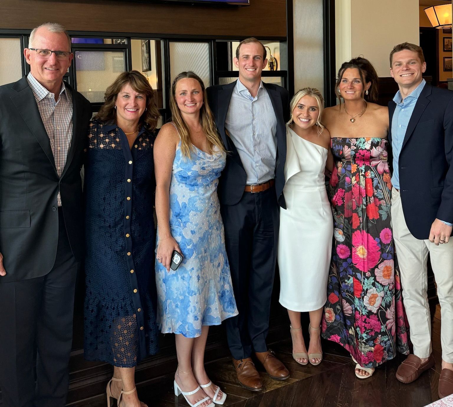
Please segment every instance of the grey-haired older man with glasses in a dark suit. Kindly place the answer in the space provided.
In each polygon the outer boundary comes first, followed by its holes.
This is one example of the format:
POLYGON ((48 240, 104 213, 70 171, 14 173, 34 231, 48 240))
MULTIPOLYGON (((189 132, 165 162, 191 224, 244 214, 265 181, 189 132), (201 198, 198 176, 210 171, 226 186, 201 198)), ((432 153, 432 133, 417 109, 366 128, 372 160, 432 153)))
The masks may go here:
POLYGON ((92 111, 63 82, 61 25, 34 29, 24 56, 29 75, 0 87, 0 387, 4 407, 63 407, 92 111))

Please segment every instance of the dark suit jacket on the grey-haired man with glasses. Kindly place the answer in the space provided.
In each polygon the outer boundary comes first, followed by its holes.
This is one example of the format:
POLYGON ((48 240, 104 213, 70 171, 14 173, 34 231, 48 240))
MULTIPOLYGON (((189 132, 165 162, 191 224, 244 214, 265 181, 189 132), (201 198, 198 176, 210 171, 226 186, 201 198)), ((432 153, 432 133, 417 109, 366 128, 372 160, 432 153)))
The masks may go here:
POLYGON ((92 115, 90 102, 71 86, 72 139, 58 177, 50 140, 27 78, 0 86, 0 283, 41 277, 58 245, 57 195, 77 261, 84 252, 80 169, 92 115))

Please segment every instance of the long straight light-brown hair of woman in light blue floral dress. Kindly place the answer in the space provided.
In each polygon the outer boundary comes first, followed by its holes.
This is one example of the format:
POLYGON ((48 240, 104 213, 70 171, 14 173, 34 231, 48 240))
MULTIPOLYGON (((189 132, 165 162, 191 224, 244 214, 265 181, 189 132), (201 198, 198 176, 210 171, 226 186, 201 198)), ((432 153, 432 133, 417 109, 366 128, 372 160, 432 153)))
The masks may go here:
POLYGON ((212 111, 207 104, 206 98, 206 90, 204 87, 204 83, 201 78, 194 72, 181 72, 177 75, 173 83, 171 85, 171 93, 170 93, 170 111, 172 115, 172 121, 178 129, 179 137, 181 138, 181 153, 184 157, 190 158, 193 149, 193 144, 190 141, 190 131, 189 128, 184 121, 183 117, 181 116, 181 112, 178 108, 178 103, 176 102, 176 84, 180 79, 195 79, 201 86, 201 91, 203 94, 203 104, 200 109, 200 124, 202 126, 203 132, 206 135, 206 144, 207 144, 207 151, 209 154, 214 152, 214 146, 218 148, 219 151, 225 151, 223 147, 222 140, 217 133, 217 127, 214 122, 214 115, 212 115, 212 111))

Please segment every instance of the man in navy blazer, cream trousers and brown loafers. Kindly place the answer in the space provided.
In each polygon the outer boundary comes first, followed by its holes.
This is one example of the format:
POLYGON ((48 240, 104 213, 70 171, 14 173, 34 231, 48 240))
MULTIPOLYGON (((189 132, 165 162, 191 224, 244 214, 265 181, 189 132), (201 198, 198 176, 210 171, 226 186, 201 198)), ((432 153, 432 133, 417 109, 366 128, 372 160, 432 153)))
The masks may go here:
POLYGON ((453 393, 453 92, 428 85, 423 51, 402 43, 390 53, 399 91, 389 103, 395 253, 414 354, 396 378, 410 383, 434 366, 427 297, 427 258, 441 306, 439 397, 453 393))

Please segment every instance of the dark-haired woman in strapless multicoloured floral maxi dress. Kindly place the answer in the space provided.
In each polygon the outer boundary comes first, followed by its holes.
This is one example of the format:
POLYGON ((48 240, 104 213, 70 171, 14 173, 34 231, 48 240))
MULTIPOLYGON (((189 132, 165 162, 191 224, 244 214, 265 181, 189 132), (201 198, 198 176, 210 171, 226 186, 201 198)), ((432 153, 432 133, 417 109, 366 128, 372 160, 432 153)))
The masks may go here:
POLYGON ((334 168, 328 187, 334 221, 323 336, 342 345, 358 378, 396 351, 409 352, 390 222, 388 109, 377 99, 376 71, 365 58, 338 72, 340 104, 325 109, 334 168))

